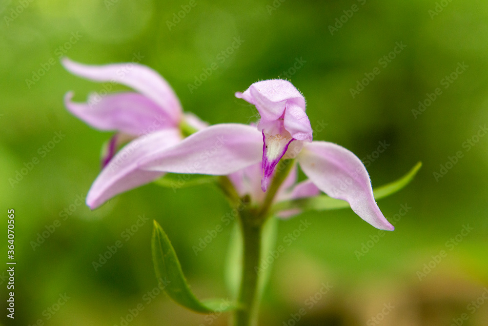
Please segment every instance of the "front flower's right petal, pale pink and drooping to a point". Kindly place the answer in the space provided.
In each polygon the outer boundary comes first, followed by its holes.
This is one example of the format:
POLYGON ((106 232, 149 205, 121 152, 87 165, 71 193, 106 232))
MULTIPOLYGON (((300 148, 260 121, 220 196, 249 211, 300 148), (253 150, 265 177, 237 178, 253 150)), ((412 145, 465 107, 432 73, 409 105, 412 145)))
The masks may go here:
POLYGON ((342 199, 367 223, 382 230, 393 230, 373 197, 371 181, 361 160, 334 143, 305 143, 298 155, 305 175, 328 196, 342 199))

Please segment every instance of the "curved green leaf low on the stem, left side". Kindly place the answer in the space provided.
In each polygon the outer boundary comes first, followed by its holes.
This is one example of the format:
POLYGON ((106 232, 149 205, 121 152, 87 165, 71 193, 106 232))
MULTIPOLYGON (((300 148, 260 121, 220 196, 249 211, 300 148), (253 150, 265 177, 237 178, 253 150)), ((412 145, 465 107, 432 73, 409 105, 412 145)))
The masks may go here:
POLYGON ((156 277, 164 283, 164 290, 171 299, 190 310, 205 314, 235 308, 234 305, 223 299, 201 302, 195 297, 183 275, 175 249, 161 225, 156 221, 154 221, 151 247, 156 277))

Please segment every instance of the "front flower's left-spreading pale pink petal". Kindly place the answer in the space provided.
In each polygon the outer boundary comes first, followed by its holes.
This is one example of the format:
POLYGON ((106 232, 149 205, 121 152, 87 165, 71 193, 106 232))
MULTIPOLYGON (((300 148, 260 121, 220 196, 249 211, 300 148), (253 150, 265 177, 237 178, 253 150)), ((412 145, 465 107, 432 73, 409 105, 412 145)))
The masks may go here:
POLYGON ((151 171, 228 175, 261 161, 261 137, 249 125, 215 124, 142 159, 140 166, 151 171))

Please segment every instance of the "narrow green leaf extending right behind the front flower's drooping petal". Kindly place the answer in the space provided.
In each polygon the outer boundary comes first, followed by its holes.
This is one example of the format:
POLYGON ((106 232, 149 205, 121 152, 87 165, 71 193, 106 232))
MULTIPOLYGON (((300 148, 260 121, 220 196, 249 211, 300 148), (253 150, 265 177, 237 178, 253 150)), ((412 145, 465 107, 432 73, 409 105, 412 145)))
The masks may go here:
MULTIPOLYGON (((378 188, 373 188, 374 198, 376 200, 389 196, 400 189, 404 188, 410 181, 412 181, 413 177, 417 174, 420 167, 422 166, 422 162, 418 162, 415 166, 408 171, 406 175, 402 178, 392 182, 387 183, 383 186, 378 188)), ((331 210, 331 209, 339 209, 339 208, 346 208, 349 207, 349 204, 346 201, 331 198, 327 195, 320 195, 310 198, 301 198, 295 199, 291 201, 280 202, 274 204, 271 208, 273 213, 288 210, 288 209, 300 209, 301 211, 307 210, 331 210)))

